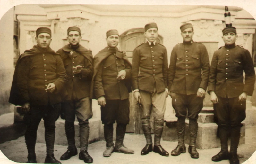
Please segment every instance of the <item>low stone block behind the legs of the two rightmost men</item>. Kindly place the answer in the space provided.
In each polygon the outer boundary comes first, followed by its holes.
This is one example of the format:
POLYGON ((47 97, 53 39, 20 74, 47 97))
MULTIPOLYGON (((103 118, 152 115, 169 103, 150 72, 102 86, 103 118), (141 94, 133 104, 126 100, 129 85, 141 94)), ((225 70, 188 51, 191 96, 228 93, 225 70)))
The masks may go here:
MULTIPOLYGON (((185 143, 189 144, 189 120, 186 120, 185 143)), ((176 132, 177 121, 169 121, 165 123, 162 138, 164 141, 177 142, 176 132)), ((220 147, 220 140, 217 137, 216 123, 198 123, 198 132, 196 146, 199 149, 210 149, 220 147)), ((230 143, 230 141, 229 141, 230 143)), ((241 127, 241 136, 239 144, 245 144, 245 124, 241 127)))

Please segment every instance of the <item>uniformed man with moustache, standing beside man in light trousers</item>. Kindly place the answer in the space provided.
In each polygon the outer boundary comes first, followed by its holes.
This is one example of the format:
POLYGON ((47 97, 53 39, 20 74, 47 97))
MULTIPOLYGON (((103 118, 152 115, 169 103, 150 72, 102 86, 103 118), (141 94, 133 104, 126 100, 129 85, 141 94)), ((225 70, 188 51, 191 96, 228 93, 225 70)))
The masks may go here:
POLYGON ((178 146, 171 152, 177 156, 186 152, 184 144, 185 119, 189 118, 189 149, 192 158, 199 158, 196 150, 198 114, 203 108, 203 99, 209 78, 209 56, 206 47, 192 40, 191 23, 181 25, 183 43, 177 44, 171 53, 168 86, 172 105, 176 112, 178 146))

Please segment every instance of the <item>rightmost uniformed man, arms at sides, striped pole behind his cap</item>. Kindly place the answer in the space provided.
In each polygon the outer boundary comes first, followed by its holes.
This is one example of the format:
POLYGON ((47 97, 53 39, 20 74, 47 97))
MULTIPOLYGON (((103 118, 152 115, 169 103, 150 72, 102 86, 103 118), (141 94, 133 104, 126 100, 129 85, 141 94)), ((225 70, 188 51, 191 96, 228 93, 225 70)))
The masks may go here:
POLYGON ((230 164, 239 164, 240 127, 245 119, 247 96, 252 96, 254 90, 255 71, 250 52, 235 45, 236 28, 226 27, 222 33, 225 46, 213 54, 208 85, 221 144, 220 152, 212 157, 212 161, 229 159, 230 164), (228 152, 229 132, 231 145, 228 152))

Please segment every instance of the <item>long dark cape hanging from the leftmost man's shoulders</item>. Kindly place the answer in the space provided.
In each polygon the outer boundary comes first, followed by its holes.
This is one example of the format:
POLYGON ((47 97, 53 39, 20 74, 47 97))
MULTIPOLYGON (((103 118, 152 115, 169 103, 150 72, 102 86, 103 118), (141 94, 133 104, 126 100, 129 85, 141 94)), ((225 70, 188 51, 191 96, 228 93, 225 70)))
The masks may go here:
MULTIPOLYGON (((31 55, 37 55, 43 53, 38 45, 34 45, 33 48, 30 50, 26 50, 23 54, 21 54, 17 60, 17 64, 15 66, 14 74, 13 74, 13 82, 12 82, 12 87, 11 87, 11 92, 10 92, 10 97, 9 97, 9 103, 14 104, 14 105, 23 105, 23 102, 21 101, 21 93, 19 88, 17 87, 17 67, 20 64, 20 61, 24 59, 25 57, 31 56, 31 55)), ((50 47, 46 49, 45 53, 50 53, 52 55, 60 55, 56 53, 54 50, 52 50, 50 47)))

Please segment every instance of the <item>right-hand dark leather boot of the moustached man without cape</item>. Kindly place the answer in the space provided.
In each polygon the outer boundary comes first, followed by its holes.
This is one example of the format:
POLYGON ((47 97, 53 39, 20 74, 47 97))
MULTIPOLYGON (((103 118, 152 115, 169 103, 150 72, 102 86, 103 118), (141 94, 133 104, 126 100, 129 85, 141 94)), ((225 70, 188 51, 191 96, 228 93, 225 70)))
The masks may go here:
POLYGON ((191 158, 199 158, 199 153, 196 150, 198 123, 197 119, 189 119, 189 147, 188 152, 191 158))

